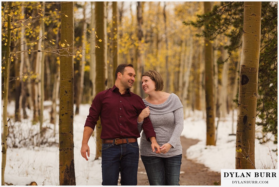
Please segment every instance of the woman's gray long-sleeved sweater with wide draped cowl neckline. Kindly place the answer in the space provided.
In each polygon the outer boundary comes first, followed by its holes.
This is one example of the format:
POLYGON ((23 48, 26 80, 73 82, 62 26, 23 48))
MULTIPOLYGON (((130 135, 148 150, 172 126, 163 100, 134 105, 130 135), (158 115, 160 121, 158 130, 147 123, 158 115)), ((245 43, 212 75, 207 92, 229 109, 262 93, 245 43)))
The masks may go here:
MULTIPOLYGON (((167 101, 162 104, 151 104, 143 99, 144 104, 149 106, 149 118, 156 133, 157 143, 162 146, 165 143, 172 145, 166 154, 152 152, 151 142, 146 140, 144 132, 140 138, 140 155, 171 157, 182 154, 180 135, 183 130, 183 106, 177 95, 171 93, 167 101)), ((138 123, 138 130, 141 133, 142 123, 138 123)))

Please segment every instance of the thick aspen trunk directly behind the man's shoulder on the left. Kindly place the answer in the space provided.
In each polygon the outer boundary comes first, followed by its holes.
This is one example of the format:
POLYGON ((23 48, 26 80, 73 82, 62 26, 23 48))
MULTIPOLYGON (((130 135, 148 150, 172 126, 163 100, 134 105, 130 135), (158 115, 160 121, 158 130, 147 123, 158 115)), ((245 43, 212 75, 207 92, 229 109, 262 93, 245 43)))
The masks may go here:
MULTIPOLYGON (((105 76, 105 65, 107 62, 107 47, 106 47, 106 6, 105 2, 95 2, 95 18, 97 35, 99 39, 103 41, 98 45, 100 48, 96 48, 96 94, 105 90, 106 87, 106 76, 105 76)), ((102 156, 102 143, 101 143, 101 131, 102 126, 100 120, 96 124, 96 157, 98 159, 102 156)))

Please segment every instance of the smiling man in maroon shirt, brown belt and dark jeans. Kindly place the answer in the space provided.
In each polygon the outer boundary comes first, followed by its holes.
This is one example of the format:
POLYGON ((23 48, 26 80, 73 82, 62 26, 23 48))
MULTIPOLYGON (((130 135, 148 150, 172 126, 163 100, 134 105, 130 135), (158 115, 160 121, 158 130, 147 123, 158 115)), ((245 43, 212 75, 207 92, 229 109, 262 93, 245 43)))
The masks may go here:
MULTIPOLYGON (((137 118, 145 105, 140 96, 130 92, 135 76, 132 64, 120 64, 115 72, 115 85, 96 95, 84 125, 81 155, 88 160, 88 140, 99 116, 101 118, 102 185, 117 185, 119 172, 121 185, 137 185, 137 138, 140 137, 137 118)), ((142 129, 146 139, 152 143, 152 151, 160 153, 160 146, 148 117, 144 118, 142 129)))

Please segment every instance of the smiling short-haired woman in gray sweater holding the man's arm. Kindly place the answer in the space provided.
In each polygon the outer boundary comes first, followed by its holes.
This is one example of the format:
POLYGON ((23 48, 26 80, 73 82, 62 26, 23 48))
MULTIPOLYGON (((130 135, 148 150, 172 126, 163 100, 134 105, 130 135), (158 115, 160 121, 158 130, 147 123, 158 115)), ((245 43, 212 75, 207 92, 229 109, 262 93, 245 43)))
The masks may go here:
POLYGON ((174 93, 162 92, 162 76, 149 70, 142 75, 142 89, 148 96, 143 99, 147 106, 138 117, 138 129, 142 131, 142 121, 149 116, 160 154, 152 152, 151 143, 144 132, 140 139, 140 156, 150 185, 179 185, 182 146, 180 135, 183 130, 183 106, 174 93))

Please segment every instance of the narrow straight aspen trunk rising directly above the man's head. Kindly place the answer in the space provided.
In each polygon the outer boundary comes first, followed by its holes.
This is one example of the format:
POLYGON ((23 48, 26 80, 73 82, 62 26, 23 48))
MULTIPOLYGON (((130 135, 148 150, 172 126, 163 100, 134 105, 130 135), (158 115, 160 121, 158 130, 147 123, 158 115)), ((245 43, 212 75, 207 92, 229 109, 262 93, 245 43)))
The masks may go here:
MULTIPOLYGON (((112 52, 113 52, 113 75, 118 66, 118 14, 117 14, 117 1, 112 2, 112 52)), ((113 76, 115 77, 115 76, 113 76)), ((115 79, 115 78, 114 78, 115 79)), ((113 80, 114 80, 113 79, 113 80)))

